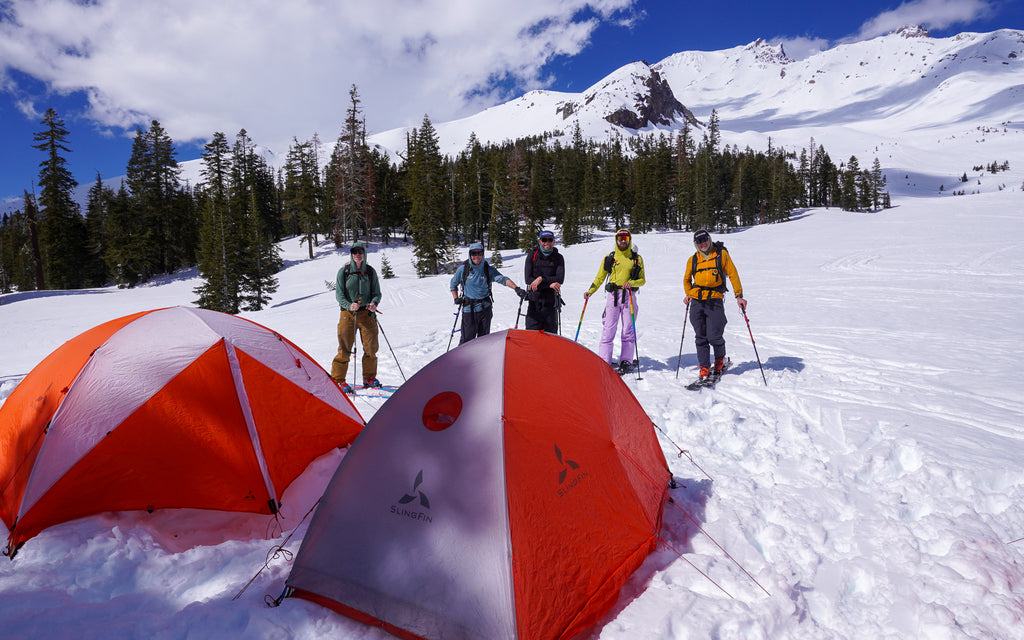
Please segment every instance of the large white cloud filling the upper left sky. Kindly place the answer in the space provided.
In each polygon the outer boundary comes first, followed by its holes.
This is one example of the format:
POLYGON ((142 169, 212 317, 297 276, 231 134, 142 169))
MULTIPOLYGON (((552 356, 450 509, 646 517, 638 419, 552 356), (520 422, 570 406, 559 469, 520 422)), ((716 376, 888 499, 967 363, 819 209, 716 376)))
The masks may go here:
MULTIPOLYGON (((89 117, 157 119, 176 140, 232 135, 284 146, 338 134, 356 85, 371 132, 457 118, 587 46, 636 0, 13 0, 0 76, 85 91, 89 117)), ((10 91, 8 83, 4 83, 10 91)))

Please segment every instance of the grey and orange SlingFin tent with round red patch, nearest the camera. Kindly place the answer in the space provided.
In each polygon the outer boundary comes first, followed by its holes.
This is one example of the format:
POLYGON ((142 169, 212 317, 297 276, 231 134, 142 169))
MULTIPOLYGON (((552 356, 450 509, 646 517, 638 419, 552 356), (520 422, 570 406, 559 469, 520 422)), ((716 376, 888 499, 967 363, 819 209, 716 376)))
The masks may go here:
POLYGON ((477 338, 370 420, 283 595, 403 639, 572 638, 656 547, 670 481, 601 358, 541 332, 477 338))

